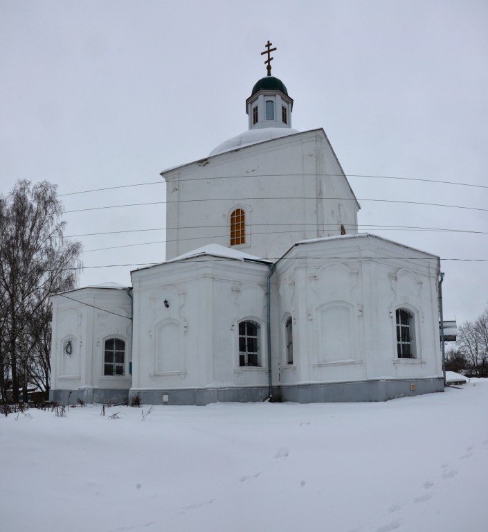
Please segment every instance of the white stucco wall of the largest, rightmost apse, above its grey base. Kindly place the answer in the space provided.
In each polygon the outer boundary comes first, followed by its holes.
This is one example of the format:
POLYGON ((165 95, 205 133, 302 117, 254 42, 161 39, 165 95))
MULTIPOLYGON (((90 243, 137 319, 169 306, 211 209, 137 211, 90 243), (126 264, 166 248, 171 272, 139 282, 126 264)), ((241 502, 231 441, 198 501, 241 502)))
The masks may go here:
POLYGON ((280 382, 442 375, 437 260, 422 251, 365 235, 293 248, 276 268, 280 382), (407 308, 413 314, 414 359, 397 357, 397 308, 407 308), (286 363, 284 346, 287 315, 293 318, 291 366, 286 363))

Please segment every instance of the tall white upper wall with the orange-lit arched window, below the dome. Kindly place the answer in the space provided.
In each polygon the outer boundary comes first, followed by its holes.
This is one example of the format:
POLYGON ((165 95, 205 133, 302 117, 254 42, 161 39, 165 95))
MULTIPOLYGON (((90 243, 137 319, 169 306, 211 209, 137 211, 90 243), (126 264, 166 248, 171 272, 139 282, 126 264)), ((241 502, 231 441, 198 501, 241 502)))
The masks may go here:
POLYGON ((292 134, 161 174, 167 182, 169 260, 230 245, 230 216, 246 213, 240 249, 277 259, 297 240, 357 232, 359 204, 323 130, 292 134), (330 198, 330 199, 323 199, 330 198), (341 198, 341 199, 337 199, 341 198))

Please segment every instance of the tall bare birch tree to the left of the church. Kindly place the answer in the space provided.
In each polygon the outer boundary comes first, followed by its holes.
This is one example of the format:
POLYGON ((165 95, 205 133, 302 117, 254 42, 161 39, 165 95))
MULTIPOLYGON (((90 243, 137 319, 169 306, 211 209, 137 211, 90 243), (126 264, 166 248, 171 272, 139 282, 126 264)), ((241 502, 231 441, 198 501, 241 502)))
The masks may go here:
POLYGON ((48 393, 48 298, 78 280, 81 244, 64 239, 62 213, 56 186, 47 181, 19 181, 7 197, 0 196, 0 363, 8 360, 14 401, 20 388, 27 399, 28 384, 48 393))

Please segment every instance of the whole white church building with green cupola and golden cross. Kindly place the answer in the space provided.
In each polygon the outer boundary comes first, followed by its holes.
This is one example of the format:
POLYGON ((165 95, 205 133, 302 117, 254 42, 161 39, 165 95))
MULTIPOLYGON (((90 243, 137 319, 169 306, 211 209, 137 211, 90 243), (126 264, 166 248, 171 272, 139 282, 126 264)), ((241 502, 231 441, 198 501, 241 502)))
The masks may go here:
POLYGON ((51 399, 206 405, 443 391, 440 259, 358 233, 324 130, 271 76, 248 130, 161 173, 165 262, 52 297, 51 399))

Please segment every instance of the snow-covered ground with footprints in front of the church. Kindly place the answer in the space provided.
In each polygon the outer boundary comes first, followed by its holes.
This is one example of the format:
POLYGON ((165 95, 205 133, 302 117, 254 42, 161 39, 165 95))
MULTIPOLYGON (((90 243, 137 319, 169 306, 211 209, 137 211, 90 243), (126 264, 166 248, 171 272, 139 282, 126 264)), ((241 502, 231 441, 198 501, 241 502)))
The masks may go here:
POLYGON ((2 416, 0 530, 485 532, 487 381, 145 420, 147 406, 2 416))

